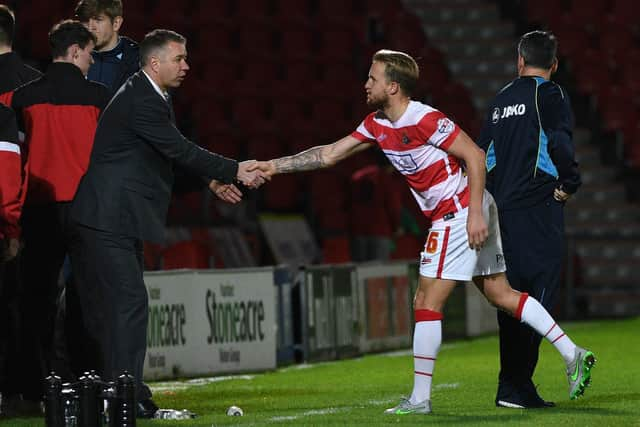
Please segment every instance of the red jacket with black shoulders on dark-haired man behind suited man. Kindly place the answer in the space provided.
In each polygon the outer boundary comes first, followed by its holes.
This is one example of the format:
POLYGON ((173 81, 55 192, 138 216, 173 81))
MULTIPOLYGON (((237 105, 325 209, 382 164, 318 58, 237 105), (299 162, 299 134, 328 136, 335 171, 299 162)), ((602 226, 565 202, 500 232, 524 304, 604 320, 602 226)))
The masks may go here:
POLYGON ((89 165, 107 88, 88 81, 78 67, 52 63, 47 72, 15 91, 0 94, 25 133, 25 205, 71 201, 89 165))

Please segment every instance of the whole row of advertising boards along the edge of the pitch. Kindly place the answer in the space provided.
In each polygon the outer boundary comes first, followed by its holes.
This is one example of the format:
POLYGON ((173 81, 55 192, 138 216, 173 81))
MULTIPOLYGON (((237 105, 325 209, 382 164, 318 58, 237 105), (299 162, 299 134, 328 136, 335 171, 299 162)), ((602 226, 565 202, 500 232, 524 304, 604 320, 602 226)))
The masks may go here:
MULTIPOLYGON (((418 266, 409 262, 145 273, 145 379, 274 369, 408 348, 418 266)), ((472 284, 447 302, 445 339, 497 330, 472 284)))

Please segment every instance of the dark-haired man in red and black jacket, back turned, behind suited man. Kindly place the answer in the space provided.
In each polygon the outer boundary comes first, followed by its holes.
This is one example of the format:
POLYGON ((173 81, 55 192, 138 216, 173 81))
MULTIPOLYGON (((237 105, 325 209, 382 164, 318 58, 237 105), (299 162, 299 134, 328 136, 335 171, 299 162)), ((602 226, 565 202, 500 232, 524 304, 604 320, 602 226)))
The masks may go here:
POLYGON ((31 348, 24 351, 20 371, 23 398, 35 401, 52 368, 57 283, 70 243, 68 209, 109 100, 106 86, 86 79, 95 36, 84 25, 62 21, 49 33, 49 42, 53 62, 44 76, 0 95, 0 102, 16 111, 26 135, 21 273, 28 298, 21 301, 21 313, 31 348))

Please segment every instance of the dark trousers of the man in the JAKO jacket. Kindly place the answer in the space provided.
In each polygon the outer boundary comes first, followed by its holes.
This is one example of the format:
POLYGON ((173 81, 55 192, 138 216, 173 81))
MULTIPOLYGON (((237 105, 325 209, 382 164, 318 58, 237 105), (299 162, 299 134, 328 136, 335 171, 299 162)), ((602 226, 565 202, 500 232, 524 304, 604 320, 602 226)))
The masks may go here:
MULTIPOLYGON (((553 199, 527 208, 500 210, 500 231, 507 278, 549 312, 555 305, 564 255, 563 204, 553 199)), ((498 397, 510 388, 532 385, 542 337, 498 311, 500 375, 498 397)))

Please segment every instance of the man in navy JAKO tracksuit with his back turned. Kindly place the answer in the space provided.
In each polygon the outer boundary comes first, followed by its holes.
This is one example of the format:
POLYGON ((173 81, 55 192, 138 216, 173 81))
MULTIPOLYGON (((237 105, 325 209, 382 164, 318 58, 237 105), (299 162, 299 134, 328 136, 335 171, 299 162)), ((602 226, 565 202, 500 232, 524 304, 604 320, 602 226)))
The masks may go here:
MULTIPOLYGON (((564 202, 580 186, 565 91, 550 81, 557 41, 534 31, 518 45, 519 77, 490 104, 478 145, 487 153, 487 189, 500 213, 507 277, 547 310, 555 304, 564 253, 564 202)), ((541 336, 505 313, 500 326, 496 405, 553 406, 531 380, 541 336)))

